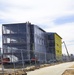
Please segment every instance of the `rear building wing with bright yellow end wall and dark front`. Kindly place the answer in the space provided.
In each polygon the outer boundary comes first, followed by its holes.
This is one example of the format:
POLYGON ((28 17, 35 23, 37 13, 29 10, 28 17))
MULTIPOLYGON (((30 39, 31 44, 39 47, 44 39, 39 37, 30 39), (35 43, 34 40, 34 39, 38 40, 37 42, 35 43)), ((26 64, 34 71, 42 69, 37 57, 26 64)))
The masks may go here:
POLYGON ((62 60, 62 38, 57 33, 47 33, 49 39, 49 53, 53 54, 53 59, 62 60))

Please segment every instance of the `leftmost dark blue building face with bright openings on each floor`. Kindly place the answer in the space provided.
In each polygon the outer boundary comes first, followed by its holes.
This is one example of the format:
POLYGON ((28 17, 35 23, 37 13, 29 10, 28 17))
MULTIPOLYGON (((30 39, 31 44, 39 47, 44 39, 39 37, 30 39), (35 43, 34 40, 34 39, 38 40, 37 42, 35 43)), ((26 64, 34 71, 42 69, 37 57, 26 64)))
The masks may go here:
POLYGON ((6 24, 3 25, 3 53, 14 53, 20 58, 21 49, 25 53, 24 58, 29 59, 28 51, 30 50, 30 25, 27 23, 21 24, 6 24))

